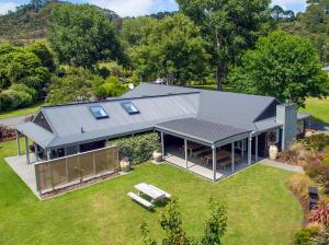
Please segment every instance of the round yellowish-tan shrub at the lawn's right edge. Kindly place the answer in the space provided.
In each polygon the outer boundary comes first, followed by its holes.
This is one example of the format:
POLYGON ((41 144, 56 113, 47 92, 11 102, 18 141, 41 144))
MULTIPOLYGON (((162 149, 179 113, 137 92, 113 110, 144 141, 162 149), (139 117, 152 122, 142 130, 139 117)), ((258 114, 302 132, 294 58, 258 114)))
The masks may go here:
POLYGON ((291 190, 299 198, 308 198, 308 187, 314 186, 315 182, 305 174, 295 174, 288 179, 291 190))

